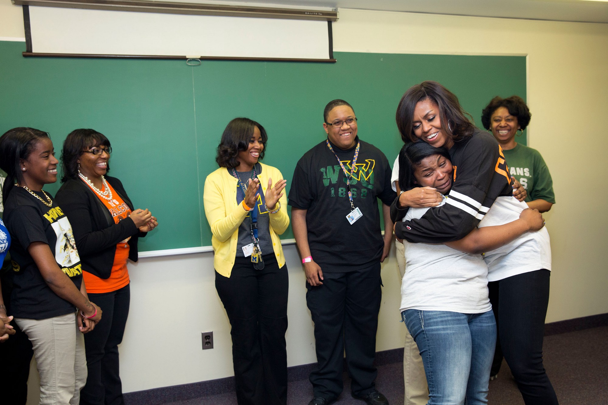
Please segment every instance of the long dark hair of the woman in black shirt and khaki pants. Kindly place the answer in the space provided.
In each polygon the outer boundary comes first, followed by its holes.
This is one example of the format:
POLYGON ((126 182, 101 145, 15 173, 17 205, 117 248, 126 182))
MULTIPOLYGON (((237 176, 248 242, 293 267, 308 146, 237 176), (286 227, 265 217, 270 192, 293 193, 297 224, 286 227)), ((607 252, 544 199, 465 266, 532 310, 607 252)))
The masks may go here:
POLYGON ((0 136, 0 168, 7 175, 4 185, 2 185, 2 201, 9 198, 10 190, 13 189, 15 183, 23 182, 19 161, 27 160, 36 144, 43 138, 50 138, 50 136, 44 131, 26 126, 13 128, 0 136))

